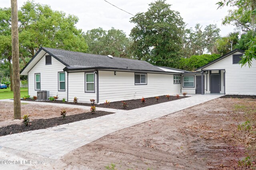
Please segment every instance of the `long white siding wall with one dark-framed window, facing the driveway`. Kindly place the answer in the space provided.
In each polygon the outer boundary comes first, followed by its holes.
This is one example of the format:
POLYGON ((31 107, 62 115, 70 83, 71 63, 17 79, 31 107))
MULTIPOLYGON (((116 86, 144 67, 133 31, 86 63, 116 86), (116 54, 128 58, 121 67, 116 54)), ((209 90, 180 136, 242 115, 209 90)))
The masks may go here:
POLYGON ((131 100, 180 93, 172 74, 147 74, 146 85, 134 85, 134 72, 99 71, 99 102, 131 100))

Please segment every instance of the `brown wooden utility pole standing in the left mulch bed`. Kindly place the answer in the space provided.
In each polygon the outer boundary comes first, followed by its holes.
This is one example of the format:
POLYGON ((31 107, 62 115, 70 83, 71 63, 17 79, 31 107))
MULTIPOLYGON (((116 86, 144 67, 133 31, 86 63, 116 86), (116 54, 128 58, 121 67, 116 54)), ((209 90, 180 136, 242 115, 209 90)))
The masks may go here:
POLYGON ((19 36, 17 0, 11 0, 12 8, 12 65, 13 65, 13 99, 14 119, 20 119, 20 67, 19 67, 19 36))

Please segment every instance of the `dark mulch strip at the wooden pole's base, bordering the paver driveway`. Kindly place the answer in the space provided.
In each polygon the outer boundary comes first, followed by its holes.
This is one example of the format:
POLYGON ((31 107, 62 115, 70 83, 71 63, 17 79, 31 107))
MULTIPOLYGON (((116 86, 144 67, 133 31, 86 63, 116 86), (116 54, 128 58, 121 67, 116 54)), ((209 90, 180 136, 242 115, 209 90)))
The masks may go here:
POLYGON ((13 124, 5 127, 0 127, 0 136, 10 135, 14 133, 22 133, 26 131, 33 131, 38 129, 46 129, 48 127, 54 127, 57 125, 63 125, 63 124, 72 123, 75 121, 91 119, 94 117, 100 117, 100 116, 109 115, 109 114, 112 114, 112 112, 95 111, 94 114, 92 114, 91 112, 87 112, 87 113, 80 113, 76 115, 67 115, 65 119, 62 119, 62 117, 60 116, 60 117, 54 117, 50 119, 30 120, 30 123, 31 123, 30 127, 29 126, 26 127, 23 123, 22 125, 13 124))

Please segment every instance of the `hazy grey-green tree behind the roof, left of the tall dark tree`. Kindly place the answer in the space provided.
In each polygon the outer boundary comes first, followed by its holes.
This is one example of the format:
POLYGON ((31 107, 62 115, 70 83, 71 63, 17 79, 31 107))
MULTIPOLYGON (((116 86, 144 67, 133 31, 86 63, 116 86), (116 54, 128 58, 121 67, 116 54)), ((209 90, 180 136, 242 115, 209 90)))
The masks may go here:
POLYGON ((115 57, 130 58, 130 40, 124 31, 113 27, 106 31, 101 27, 91 29, 84 34, 88 44, 88 53, 100 55, 112 55, 115 57))

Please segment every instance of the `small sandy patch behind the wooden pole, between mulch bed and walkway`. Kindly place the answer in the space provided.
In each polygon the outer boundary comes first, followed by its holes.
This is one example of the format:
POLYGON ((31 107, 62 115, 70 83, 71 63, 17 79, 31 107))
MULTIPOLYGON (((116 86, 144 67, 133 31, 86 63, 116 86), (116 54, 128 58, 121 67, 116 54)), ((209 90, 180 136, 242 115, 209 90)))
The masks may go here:
MULTIPOLYGON (((29 114, 31 121, 33 121, 33 119, 59 117, 60 111, 62 110, 66 110, 66 115, 74 115, 90 111, 89 109, 21 103, 21 115, 29 114)), ((0 102, 0 127, 21 124, 22 120, 14 120, 13 114, 13 102, 0 102)))

